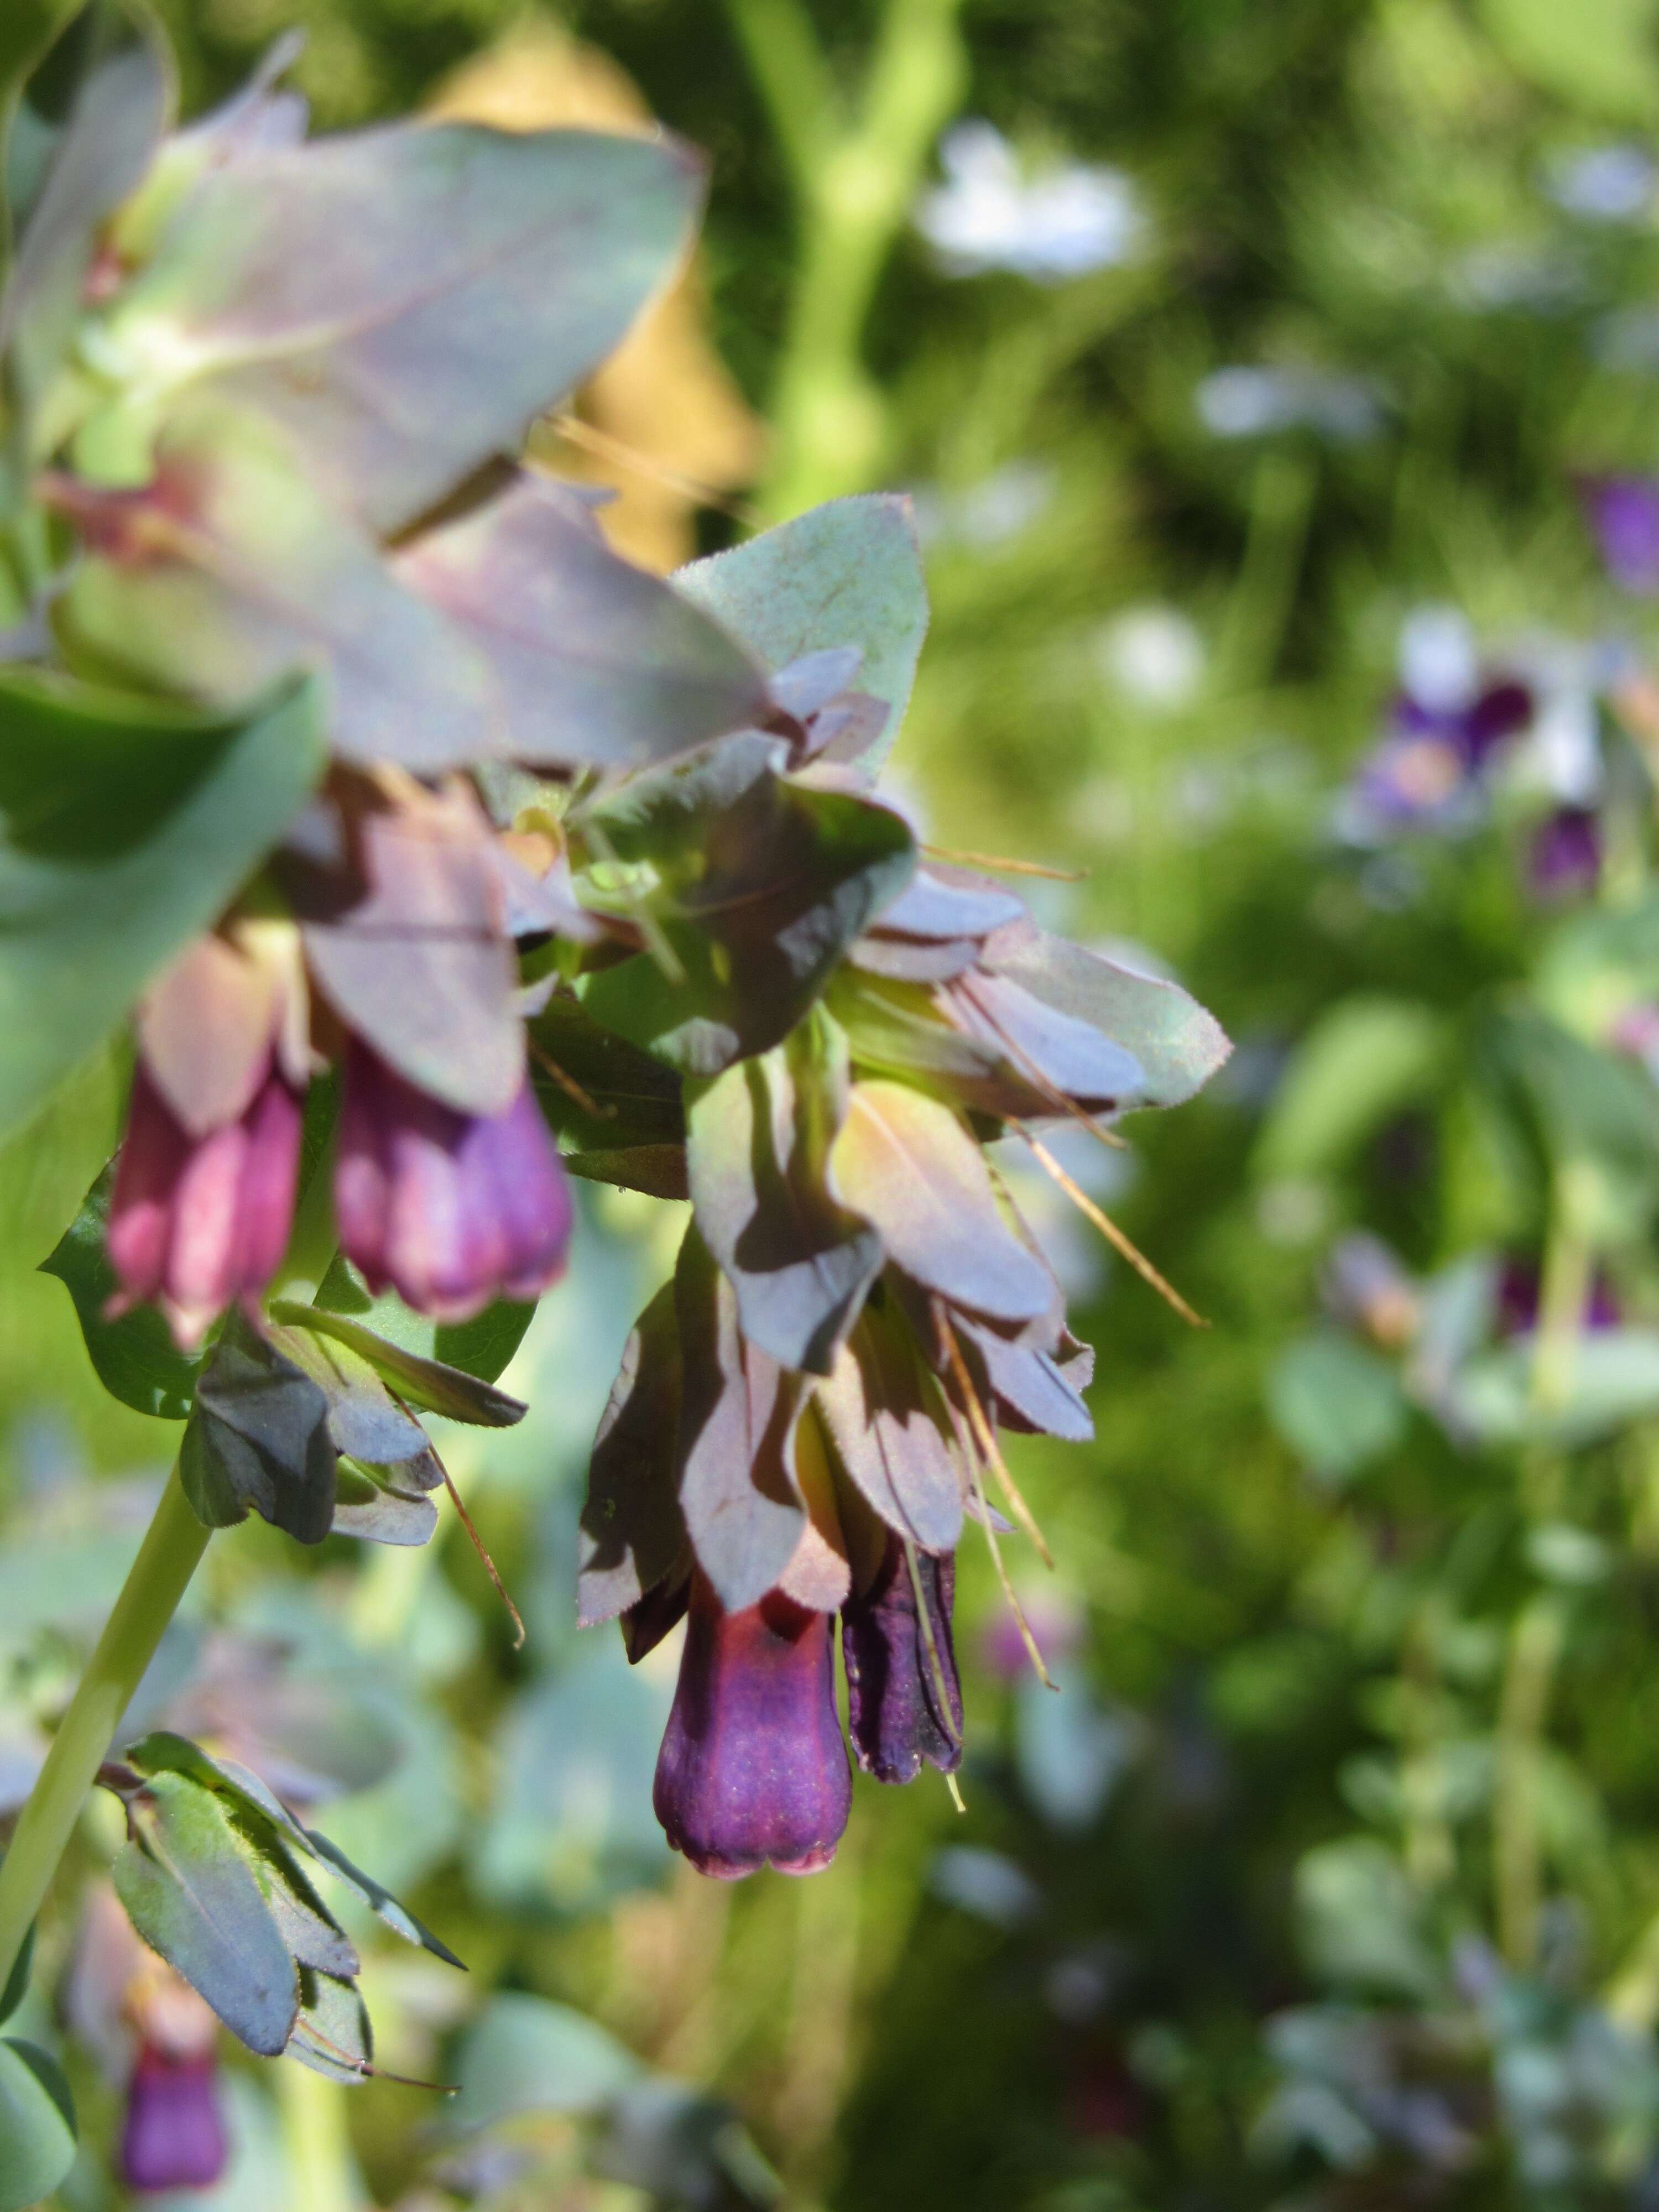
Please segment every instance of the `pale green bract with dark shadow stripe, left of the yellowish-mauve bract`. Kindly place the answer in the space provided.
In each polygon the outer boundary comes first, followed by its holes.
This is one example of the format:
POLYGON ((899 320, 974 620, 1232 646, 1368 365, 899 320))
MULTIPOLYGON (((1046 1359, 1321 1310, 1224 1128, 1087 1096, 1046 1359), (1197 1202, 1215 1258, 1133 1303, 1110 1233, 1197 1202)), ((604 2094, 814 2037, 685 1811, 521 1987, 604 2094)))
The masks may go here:
POLYGON ((737 1292, 739 1325, 807 1374, 830 1374, 883 1267, 880 1237, 825 1179, 845 1110, 847 1040, 827 1020, 690 1086, 688 1099, 697 1228, 737 1292))

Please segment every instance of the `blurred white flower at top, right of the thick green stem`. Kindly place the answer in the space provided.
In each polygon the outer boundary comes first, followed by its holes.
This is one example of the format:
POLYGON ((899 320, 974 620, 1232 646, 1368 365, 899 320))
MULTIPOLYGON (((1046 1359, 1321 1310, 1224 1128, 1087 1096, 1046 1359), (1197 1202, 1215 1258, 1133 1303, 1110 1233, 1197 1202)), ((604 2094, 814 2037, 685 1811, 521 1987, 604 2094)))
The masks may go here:
POLYGON ((1068 164, 1026 179, 982 119, 945 133, 940 168, 945 184, 922 195, 916 228, 951 276, 1011 270, 1064 283, 1130 261, 1146 239, 1139 192, 1121 170, 1068 164))

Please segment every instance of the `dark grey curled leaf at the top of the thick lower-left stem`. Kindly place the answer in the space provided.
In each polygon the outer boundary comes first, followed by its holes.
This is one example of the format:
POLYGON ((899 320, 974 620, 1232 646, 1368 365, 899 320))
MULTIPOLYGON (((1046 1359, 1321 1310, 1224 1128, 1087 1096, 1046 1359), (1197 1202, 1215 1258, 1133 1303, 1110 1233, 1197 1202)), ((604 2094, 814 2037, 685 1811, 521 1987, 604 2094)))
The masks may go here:
POLYGON ((208 1528, 254 1511, 299 1544, 321 1544, 334 1520, 327 1396, 241 1314, 197 1380, 179 1480, 208 1528))

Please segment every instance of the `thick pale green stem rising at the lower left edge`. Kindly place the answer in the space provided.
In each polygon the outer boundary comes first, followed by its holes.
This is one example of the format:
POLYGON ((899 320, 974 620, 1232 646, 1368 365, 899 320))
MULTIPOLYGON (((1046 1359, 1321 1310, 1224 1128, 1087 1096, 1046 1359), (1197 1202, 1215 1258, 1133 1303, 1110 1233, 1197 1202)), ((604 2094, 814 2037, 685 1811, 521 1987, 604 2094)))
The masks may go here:
POLYGON ((51 1889, 86 1792, 108 1759, 122 1714, 201 1564, 210 1533, 190 1511, 175 1467, 0 1863, 0 1986, 51 1889))

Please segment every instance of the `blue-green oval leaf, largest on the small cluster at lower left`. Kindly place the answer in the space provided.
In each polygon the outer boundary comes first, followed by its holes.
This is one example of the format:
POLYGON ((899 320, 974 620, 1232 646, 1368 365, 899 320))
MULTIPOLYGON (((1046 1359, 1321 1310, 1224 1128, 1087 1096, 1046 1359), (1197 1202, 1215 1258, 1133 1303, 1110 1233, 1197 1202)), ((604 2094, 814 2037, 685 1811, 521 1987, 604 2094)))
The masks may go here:
POLYGON ((128 1818, 137 1836, 115 1860, 115 1891, 133 1927, 232 2035, 276 2057, 299 2013, 294 1962, 223 1803, 159 1772, 128 1818))

